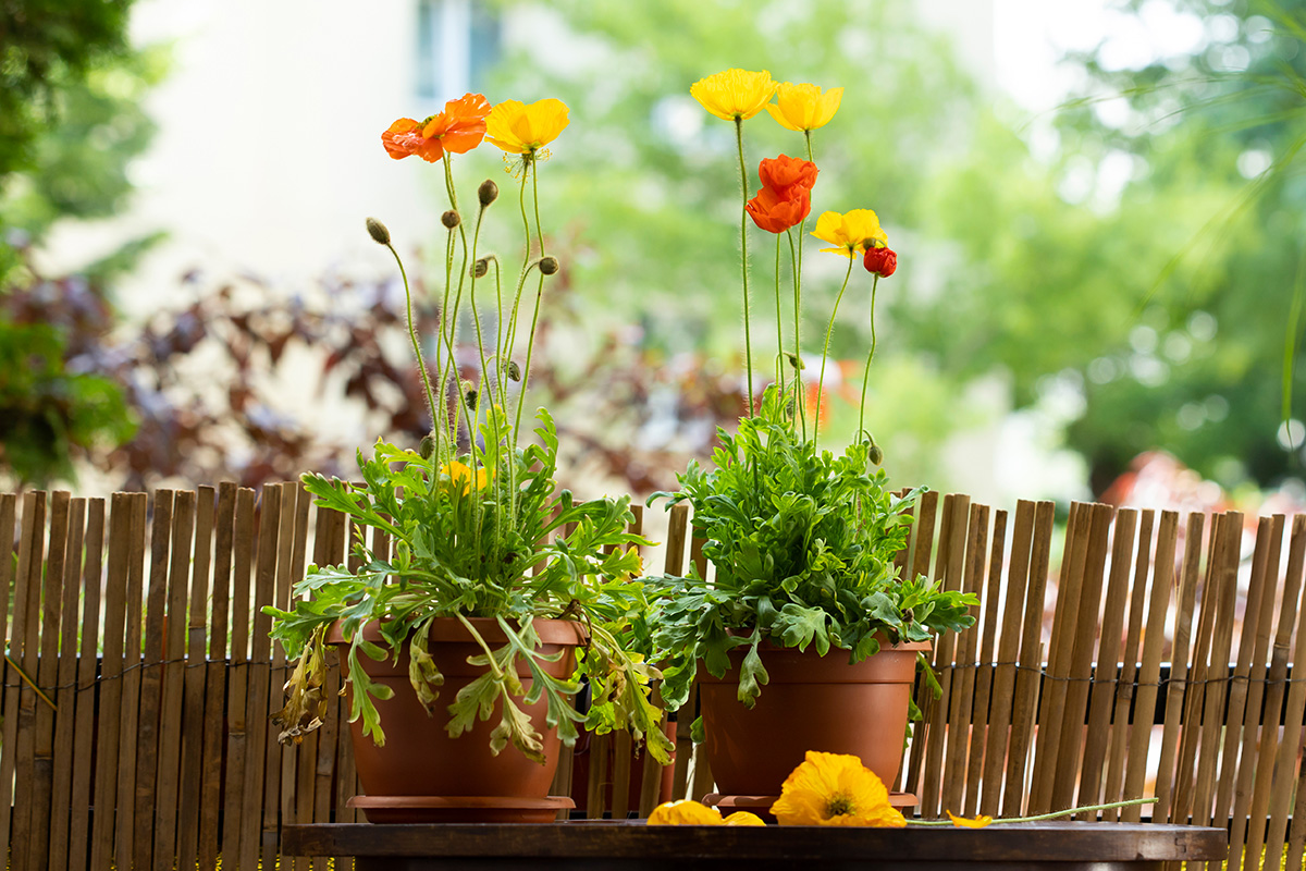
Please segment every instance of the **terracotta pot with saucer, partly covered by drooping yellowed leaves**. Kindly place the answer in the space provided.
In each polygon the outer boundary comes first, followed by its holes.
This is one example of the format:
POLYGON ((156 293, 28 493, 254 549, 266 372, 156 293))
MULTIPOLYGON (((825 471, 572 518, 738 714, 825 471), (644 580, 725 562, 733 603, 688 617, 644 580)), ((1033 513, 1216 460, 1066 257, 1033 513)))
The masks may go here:
MULTIPOLYGON (((499 648, 507 640, 494 619, 474 618, 470 620, 491 648, 499 648)), ((573 620, 534 622, 535 632, 543 642, 541 652, 554 654, 564 652, 556 662, 546 662, 545 669, 556 678, 569 676, 576 666, 575 648, 584 644, 585 633, 573 620)), ((363 628, 363 637, 383 644, 375 623, 363 628)), ((405 646, 398 662, 393 659, 375 662, 367 656, 359 656, 359 663, 375 683, 383 683, 394 691, 392 699, 376 703, 385 731, 385 746, 377 747, 371 736, 363 735, 363 722, 350 725, 354 740, 354 760, 358 777, 370 802, 358 802, 366 807, 372 821, 417 821, 419 817, 438 821, 509 821, 512 814, 504 816, 486 815, 487 806, 500 811, 511 810, 513 799, 522 808, 533 807, 539 821, 549 821, 558 810, 556 803, 543 806, 541 802, 549 794, 558 765, 559 739, 555 729, 545 725, 547 701, 542 696, 535 704, 528 705, 517 700, 517 706, 530 717, 532 725, 543 735, 546 763, 533 763, 511 744, 498 756, 490 753, 490 733, 499 725, 502 704, 495 703, 494 713, 487 721, 475 725, 458 738, 449 738, 445 725, 449 721, 448 705, 458 691, 485 673, 485 666, 468 665, 468 657, 482 654, 481 646, 471 639, 456 618, 438 618, 431 623, 431 642, 428 650, 436 667, 444 675, 440 696, 435 703, 435 713, 428 716, 413 692, 409 683, 409 656, 405 646), (444 797, 440 802, 407 802, 414 808, 426 807, 436 811, 413 815, 397 812, 401 797, 444 797), (448 797, 468 797, 465 802, 451 802, 448 797), (384 799, 384 800, 383 800, 384 799), (471 800, 475 799, 475 800, 471 800), (453 806, 462 806, 465 814, 456 812, 453 806)), ((338 626, 326 635, 329 644, 341 645, 341 661, 345 657, 345 640, 338 626)), ((517 675, 522 688, 529 692, 532 678, 529 666, 517 661, 517 675)), ((349 686, 350 699, 353 684, 349 686)), ((567 802, 569 806, 569 800, 567 802)), ((525 819, 525 817, 524 817, 525 819)))

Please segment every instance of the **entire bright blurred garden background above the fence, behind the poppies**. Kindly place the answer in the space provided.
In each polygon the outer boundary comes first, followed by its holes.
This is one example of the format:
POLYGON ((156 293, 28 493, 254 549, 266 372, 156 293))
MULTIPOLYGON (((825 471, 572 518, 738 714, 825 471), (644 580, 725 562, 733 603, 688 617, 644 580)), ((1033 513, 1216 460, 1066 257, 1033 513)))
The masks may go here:
MULTIPOLYGON (((568 483, 673 486, 743 409, 733 129, 688 87, 744 67, 845 87, 814 210, 875 209, 900 256, 867 398, 895 482, 1301 508, 1302 22, 1288 0, 136 0, 123 47, 12 89, 0 483, 253 484, 421 439, 402 285, 363 218, 434 325, 443 170, 380 133, 475 90, 571 107, 539 175, 564 269, 530 396, 568 483)), ((760 115, 746 148, 802 141, 760 115)), ((504 168, 453 165, 465 197, 512 191, 504 168)), ((512 256, 515 208, 487 229, 512 256)), ((767 334, 773 239, 751 232, 767 334)), ((808 242, 815 362, 842 262, 808 242)), ((836 441, 870 341, 855 278, 836 441)))

